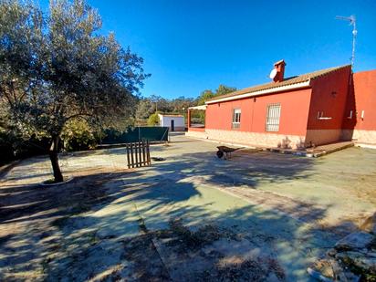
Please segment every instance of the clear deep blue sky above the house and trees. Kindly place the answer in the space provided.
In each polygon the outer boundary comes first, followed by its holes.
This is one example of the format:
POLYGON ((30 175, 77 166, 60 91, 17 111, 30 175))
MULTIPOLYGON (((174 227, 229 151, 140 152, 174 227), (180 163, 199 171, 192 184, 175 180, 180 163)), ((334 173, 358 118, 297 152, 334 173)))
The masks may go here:
MULTIPOLYGON (((46 5, 47 1, 41 1, 46 5)), ((266 83, 273 63, 285 76, 350 63, 357 16, 354 71, 376 68, 376 1, 89 0, 103 32, 144 58, 143 96, 197 97, 219 84, 242 89, 266 83)))

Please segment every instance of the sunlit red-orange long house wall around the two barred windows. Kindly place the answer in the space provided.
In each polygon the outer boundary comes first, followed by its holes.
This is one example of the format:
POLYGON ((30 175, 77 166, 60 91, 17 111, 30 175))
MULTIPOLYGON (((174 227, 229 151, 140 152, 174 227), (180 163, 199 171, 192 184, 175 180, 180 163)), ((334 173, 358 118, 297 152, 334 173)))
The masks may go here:
POLYGON ((237 99, 209 104, 206 108, 206 129, 249 131, 273 134, 306 135, 311 89, 300 89, 256 99, 237 99), (265 131, 266 107, 280 103, 281 115, 278 132, 265 131), (241 109, 240 128, 232 129, 233 110, 241 109))

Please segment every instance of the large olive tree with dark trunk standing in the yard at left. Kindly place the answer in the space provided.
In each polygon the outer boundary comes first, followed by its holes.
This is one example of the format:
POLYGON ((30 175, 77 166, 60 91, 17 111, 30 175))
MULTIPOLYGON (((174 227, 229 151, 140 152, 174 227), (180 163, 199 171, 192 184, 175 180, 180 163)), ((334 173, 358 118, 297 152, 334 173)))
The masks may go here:
POLYGON ((69 120, 110 126, 134 114, 148 77, 142 58, 113 34, 84 1, 51 1, 48 13, 24 1, 0 1, 0 109, 25 137, 50 138, 56 182, 59 137, 69 120))

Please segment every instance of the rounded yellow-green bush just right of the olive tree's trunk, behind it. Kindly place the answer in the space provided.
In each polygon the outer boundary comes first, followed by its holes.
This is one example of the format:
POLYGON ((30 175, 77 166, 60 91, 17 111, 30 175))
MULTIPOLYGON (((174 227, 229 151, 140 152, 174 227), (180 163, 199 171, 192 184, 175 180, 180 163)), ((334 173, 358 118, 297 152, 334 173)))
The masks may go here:
POLYGON ((67 151, 94 149, 97 145, 96 132, 86 120, 69 120, 61 134, 67 151))

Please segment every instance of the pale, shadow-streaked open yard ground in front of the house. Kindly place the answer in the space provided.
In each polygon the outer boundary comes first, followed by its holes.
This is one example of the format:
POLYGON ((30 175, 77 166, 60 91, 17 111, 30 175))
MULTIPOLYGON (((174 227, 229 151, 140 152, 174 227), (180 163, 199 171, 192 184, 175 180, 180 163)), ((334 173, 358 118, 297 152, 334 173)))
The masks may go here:
POLYGON ((376 151, 319 159, 172 136, 151 167, 124 149, 47 158, 0 180, 0 280, 308 281, 308 264, 376 210, 376 151))

